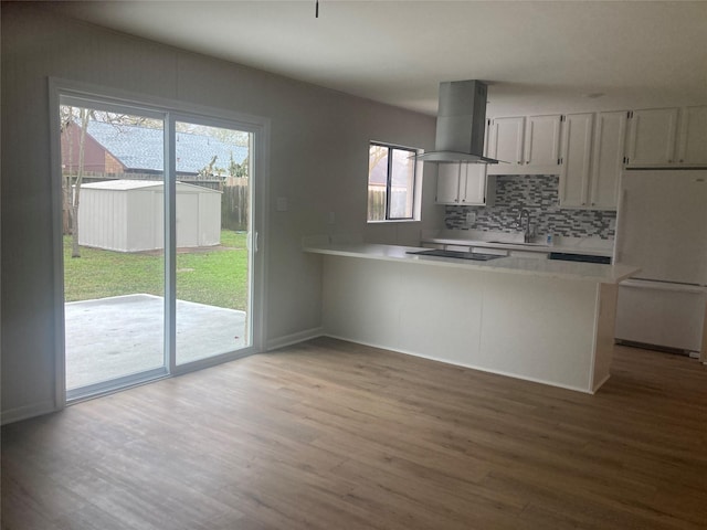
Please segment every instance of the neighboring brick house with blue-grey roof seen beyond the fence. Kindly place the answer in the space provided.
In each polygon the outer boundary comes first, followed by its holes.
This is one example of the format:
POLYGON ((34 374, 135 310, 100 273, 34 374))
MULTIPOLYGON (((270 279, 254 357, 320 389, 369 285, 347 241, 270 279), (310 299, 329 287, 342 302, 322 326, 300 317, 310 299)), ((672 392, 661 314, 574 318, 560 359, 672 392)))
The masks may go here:
MULTIPOLYGON (((74 123, 62 131, 62 167, 78 166, 81 127, 74 123)), ((161 173, 162 129, 112 125, 91 120, 84 145, 84 170, 97 173, 161 173)), ((190 132, 177 134, 177 174, 196 176, 217 157, 214 171, 225 178, 231 159, 243 163, 247 148, 190 132)))

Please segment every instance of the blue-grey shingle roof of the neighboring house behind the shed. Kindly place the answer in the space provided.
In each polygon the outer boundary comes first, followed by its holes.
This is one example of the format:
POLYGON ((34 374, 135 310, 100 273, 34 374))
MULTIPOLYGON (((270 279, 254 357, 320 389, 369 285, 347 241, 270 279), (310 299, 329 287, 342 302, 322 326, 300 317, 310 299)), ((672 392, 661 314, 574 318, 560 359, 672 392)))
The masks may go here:
MULTIPOLYGON (((115 126, 92 120, 86 131, 127 169, 163 169, 162 129, 136 125, 115 126)), ((209 166, 214 156, 214 168, 223 168, 225 176, 231 156, 236 163, 242 163, 247 157, 247 148, 226 144, 211 136, 177 132, 178 172, 197 173, 209 166)))

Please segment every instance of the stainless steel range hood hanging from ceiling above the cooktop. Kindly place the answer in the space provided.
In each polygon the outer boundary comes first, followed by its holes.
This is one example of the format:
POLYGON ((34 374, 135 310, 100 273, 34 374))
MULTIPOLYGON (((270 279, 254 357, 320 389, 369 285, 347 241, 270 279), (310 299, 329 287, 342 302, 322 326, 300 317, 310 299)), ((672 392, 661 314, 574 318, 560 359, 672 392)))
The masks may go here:
POLYGON ((424 162, 498 163, 484 157, 486 84, 447 81, 440 84, 440 107, 434 151, 416 157, 424 162))

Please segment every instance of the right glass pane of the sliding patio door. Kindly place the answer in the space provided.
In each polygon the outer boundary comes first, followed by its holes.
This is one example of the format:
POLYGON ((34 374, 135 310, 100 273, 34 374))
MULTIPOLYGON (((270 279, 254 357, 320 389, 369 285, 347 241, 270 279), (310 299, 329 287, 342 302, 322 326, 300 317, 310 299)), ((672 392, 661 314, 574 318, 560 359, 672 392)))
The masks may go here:
POLYGON ((177 121, 177 364, 251 346, 249 132, 177 121))

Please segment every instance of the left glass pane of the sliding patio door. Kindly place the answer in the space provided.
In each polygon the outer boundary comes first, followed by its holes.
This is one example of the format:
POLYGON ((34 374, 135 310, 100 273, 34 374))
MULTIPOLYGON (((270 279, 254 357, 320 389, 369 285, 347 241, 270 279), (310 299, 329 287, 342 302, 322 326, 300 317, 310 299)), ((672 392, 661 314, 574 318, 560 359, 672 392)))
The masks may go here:
POLYGON ((61 103, 66 390, 78 395, 165 367, 163 124, 61 103))

